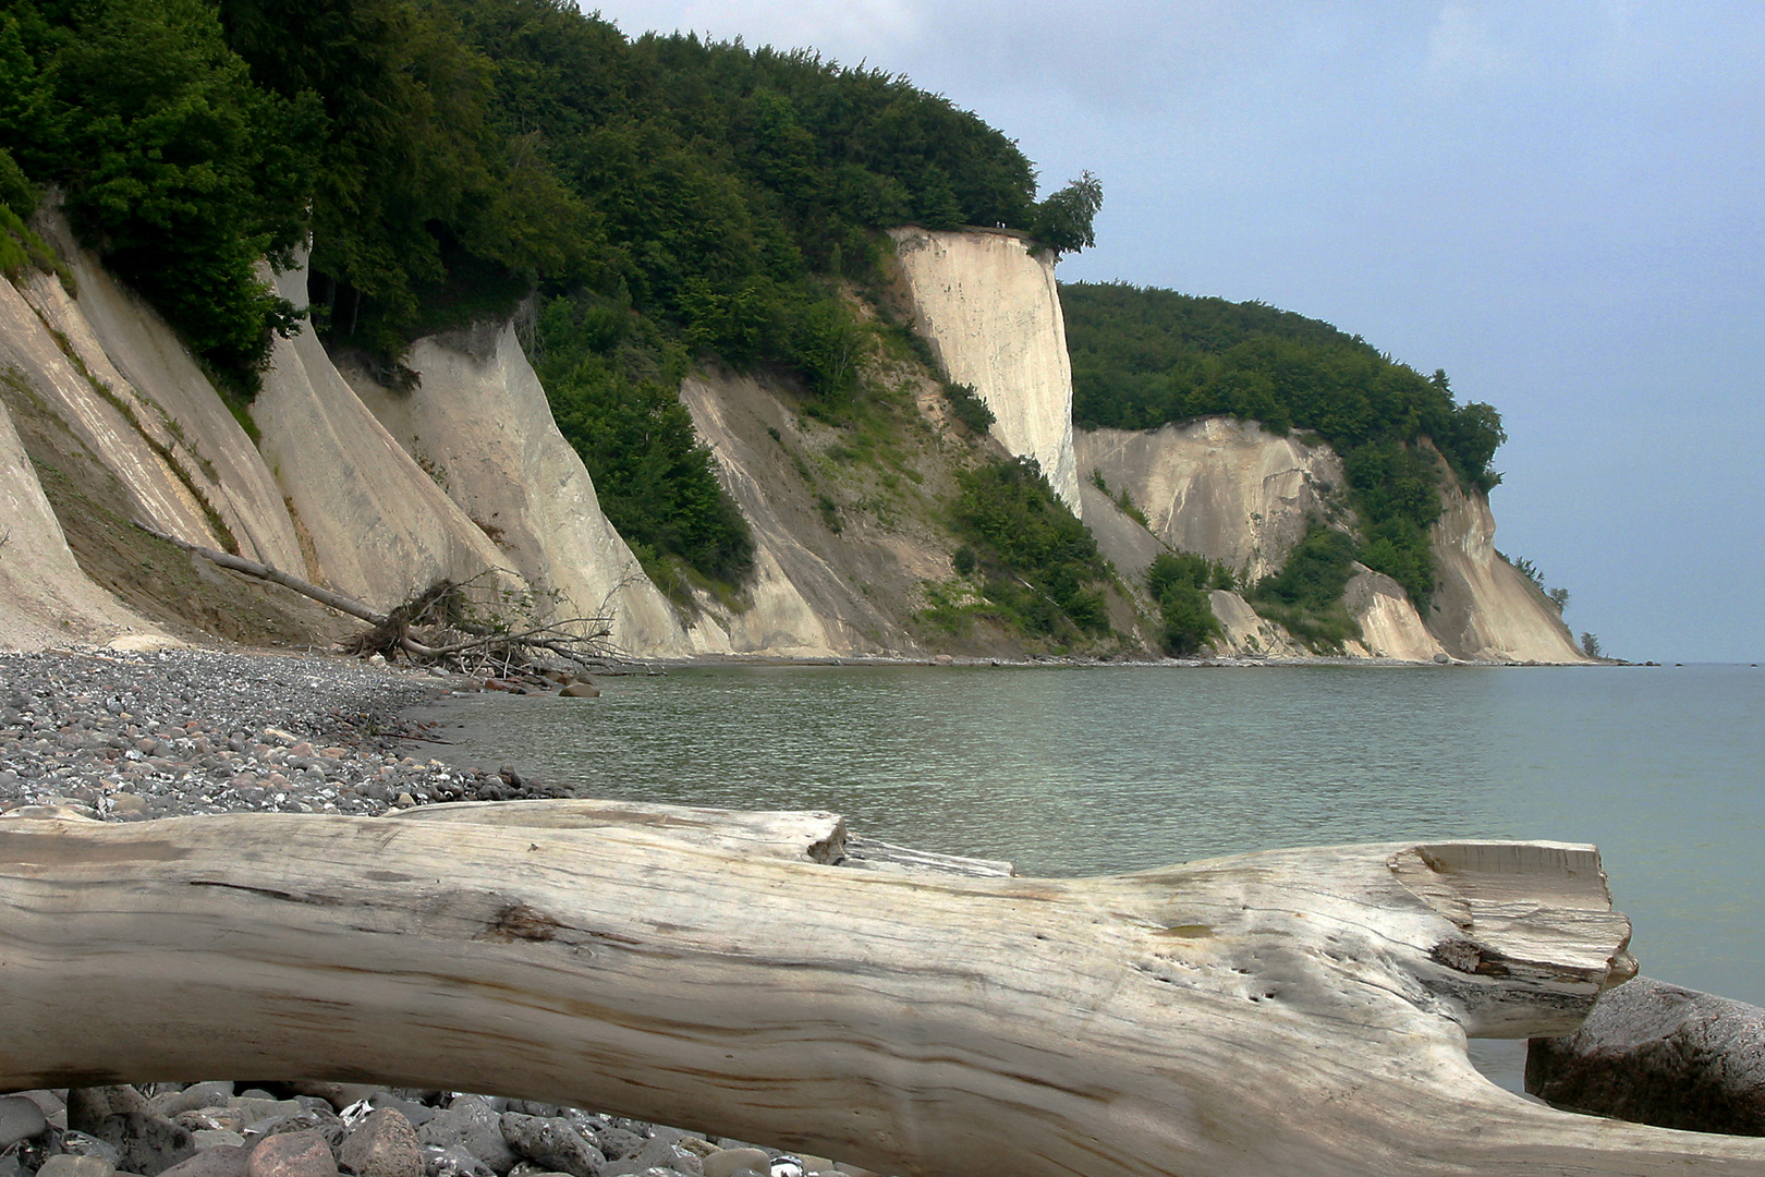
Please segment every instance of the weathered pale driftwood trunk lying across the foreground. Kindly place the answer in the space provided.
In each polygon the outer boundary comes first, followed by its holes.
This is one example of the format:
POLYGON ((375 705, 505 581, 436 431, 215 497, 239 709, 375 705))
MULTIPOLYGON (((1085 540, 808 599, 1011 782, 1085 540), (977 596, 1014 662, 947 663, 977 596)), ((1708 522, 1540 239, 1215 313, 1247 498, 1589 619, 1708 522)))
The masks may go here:
POLYGON ((831 817, 570 805, 0 821, 0 1089, 439 1085, 937 1177, 1765 1173, 1467 1062, 1627 976, 1592 847, 904 877, 803 861, 831 817))

